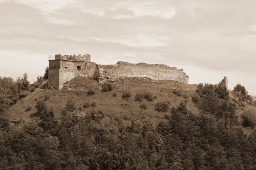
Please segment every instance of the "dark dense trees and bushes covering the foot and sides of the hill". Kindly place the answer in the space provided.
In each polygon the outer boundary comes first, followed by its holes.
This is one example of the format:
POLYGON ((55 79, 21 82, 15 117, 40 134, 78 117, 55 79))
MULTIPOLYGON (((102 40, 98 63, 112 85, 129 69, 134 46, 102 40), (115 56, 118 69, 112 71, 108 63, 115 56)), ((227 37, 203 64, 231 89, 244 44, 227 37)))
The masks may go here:
MULTIPOLYGON (((101 110, 78 114, 93 103, 77 108, 72 100, 59 120, 44 100, 35 105, 38 122, 20 124, 8 119, 5 111, 33 93, 44 79, 47 77, 38 77, 30 85, 26 74, 17 80, 0 77, 2 170, 256 169, 255 113, 236 115, 238 108, 256 103, 241 84, 233 91, 221 84, 197 85, 190 99, 199 114, 188 110, 188 97, 177 107, 170 107, 168 101, 158 102, 155 110, 166 116, 157 126, 146 112, 140 119, 131 119, 130 125, 125 125, 119 115, 101 110), (230 99, 230 94, 236 99, 230 99), (250 134, 244 133, 244 128, 250 128, 250 134)), ((102 85, 102 93, 111 93, 112 89, 111 83, 102 85)), ((87 94, 93 95, 93 91, 87 94)), ((150 102, 156 96, 149 92, 131 96, 125 91, 122 96, 113 93, 111 97, 150 102)), ((143 103, 140 107, 147 111, 143 103)))

